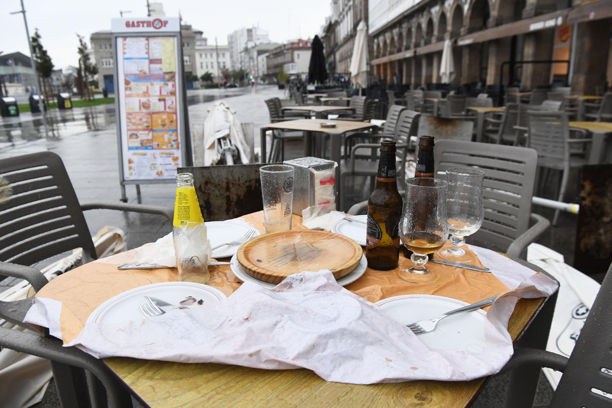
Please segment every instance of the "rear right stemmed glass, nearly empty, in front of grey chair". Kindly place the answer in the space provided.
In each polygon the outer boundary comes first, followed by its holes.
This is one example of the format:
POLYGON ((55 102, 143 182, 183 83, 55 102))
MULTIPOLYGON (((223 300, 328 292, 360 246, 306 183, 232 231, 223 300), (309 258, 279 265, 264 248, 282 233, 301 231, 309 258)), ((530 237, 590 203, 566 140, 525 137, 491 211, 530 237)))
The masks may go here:
POLYGON ((482 182, 485 173, 469 167, 453 167, 446 170, 449 190, 446 199, 446 214, 449 221, 450 243, 453 245, 439 252, 441 257, 449 257, 458 262, 465 255, 465 237, 480 229, 484 217, 482 206, 482 182))

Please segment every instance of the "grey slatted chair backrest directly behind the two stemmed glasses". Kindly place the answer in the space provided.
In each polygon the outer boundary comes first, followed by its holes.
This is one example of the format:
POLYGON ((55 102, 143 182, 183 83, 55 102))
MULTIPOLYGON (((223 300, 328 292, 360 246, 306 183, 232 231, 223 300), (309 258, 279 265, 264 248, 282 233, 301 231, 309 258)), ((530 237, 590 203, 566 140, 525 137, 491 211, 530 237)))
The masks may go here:
POLYGON ((482 227, 467 240, 506 251, 529 227, 537 154, 534 149, 491 143, 436 140, 436 178, 451 167, 477 167, 485 172, 482 227))

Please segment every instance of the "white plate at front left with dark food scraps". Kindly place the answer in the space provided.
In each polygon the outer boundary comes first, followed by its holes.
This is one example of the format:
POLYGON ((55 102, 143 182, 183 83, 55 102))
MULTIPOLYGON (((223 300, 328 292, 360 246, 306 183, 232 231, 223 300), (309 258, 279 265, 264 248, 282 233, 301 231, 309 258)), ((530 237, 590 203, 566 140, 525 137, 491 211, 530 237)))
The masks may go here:
POLYGON ((192 304, 188 308, 206 308, 207 304, 225 299, 220 290, 209 285, 194 282, 161 282, 144 285, 119 293, 100 304, 87 319, 88 323, 114 324, 145 318, 138 307, 138 300, 144 296, 152 296, 168 303, 178 305, 179 302, 192 296, 203 300, 202 304, 192 304))

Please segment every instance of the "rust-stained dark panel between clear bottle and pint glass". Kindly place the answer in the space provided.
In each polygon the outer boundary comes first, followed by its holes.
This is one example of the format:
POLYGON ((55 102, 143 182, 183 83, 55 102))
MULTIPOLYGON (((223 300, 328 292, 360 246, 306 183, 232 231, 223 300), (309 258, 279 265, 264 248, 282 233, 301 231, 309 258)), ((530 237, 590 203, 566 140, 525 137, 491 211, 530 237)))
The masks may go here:
POLYGON ((262 165, 182 167, 179 172, 193 174, 204 220, 225 221, 261 210, 259 167, 262 165), (211 194, 214 191, 223 194, 211 194))

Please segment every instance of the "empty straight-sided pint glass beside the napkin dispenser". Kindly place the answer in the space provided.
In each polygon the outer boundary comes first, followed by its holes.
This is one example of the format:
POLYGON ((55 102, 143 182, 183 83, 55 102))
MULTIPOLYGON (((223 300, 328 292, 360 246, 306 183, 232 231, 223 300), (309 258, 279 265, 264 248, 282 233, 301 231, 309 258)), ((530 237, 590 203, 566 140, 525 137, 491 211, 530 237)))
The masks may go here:
POLYGON ((259 167, 266 232, 291 229, 293 210, 293 166, 270 164, 259 167))

